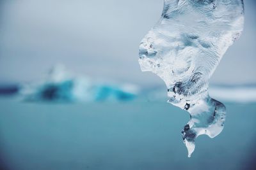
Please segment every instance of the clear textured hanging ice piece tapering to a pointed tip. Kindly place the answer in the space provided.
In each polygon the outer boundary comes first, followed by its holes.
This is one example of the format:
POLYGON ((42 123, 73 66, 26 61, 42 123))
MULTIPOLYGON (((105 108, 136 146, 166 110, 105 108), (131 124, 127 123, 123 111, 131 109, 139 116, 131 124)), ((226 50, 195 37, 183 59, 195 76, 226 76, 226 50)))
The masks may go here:
POLYGON ((242 0, 164 0, 160 20, 140 44, 140 67, 164 80, 168 103, 187 110, 188 157, 196 137, 223 129, 225 106, 208 93, 209 78, 243 30, 242 0))

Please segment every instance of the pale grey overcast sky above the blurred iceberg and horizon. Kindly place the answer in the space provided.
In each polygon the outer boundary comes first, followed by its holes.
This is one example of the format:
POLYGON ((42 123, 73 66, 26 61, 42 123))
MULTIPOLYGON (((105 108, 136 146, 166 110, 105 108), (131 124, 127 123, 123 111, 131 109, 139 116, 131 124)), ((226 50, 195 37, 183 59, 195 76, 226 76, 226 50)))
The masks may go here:
MULTIPOLYGON (((243 34, 211 83, 256 83, 255 7, 244 0, 243 34)), ((138 48, 162 10, 163 0, 1 0, 0 83, 37 81, 61 63, 92 79, 161 85, 155 74, 141 72, 138 48)))

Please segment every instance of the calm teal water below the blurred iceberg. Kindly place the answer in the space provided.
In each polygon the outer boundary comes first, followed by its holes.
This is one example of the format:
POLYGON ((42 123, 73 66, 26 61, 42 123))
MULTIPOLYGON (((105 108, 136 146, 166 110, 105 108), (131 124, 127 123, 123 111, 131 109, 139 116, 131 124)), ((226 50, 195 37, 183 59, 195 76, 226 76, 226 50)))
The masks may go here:
POLYGON ((191 158, 180 130, 189 114, 165 101, 26 103, 0 98, 1 169, 255 169, 256 104, 225 103, 216 138, 191 158))

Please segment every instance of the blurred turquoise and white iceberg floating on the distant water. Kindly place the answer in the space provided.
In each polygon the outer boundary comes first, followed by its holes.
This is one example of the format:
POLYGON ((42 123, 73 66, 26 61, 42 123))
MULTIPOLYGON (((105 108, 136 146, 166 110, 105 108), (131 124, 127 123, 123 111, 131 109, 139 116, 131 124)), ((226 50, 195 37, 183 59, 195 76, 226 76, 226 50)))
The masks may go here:
POLYGON ((44 80, 22 85, 20 94, 26 101, 131 101, 138 96, 138 87, 95 83, 84 76, 74 76, 59 64, 44 80))

